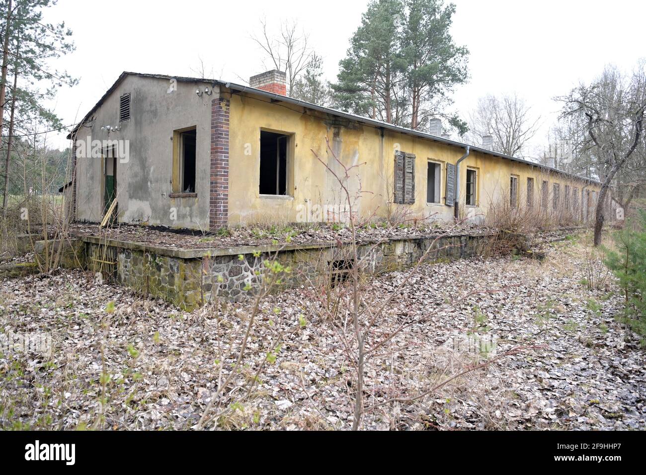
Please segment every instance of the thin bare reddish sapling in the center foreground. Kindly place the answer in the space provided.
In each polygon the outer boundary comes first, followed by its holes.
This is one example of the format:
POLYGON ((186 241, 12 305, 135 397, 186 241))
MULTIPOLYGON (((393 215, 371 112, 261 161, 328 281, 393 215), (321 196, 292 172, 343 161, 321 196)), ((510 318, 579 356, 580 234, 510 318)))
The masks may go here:
MULTIPOLYGON (((506 357, 508 355, 517 354, 525 350, 539 348, 539 346, 517 346, 505 354, 498 355, 494 358, 487 359, 479 364, 465 365, 461 372, 450 377, 442 378, 443 381, 438 381, 430 388, 419 390, 416 388, 412 393, 397 394, 394 397, 371 397, 371 404, 366 404, 369 396, 366 391, 366 378, 370 377, 368 371, 369 364, 374 363, 375 359, 379 359, 384 355, 396 355, 404 350, 405 347, 399 346, 396 342, 397 336, 406 332, 415 324, 428 322, 432 319, 432 312, 424 313, 419 317, 410 317, 397 321, 395 324, 384 324, 383 318, 388 315, 391 304, 397 299, 401 299, 402 292, 408 286, 409 282, 415 279, 422 264, 430 262, 432 259, 437 259, 444 251, 444 249, 452 247, 452 244, 442 245, 441 239, 447 237, 455 230, 461 222, 456 222, 453 227, 447 229, 443 233, 436 235, 428 247, 422 251, 419 257, 415 256, 415 261, 412 267, 402 272, 401 279, 397 280, 397 284, 388 292, 380 294, 377 299, 375 296, 368 295, 366 291, 368 288, 367 282, 370 279, 365 279, 365 269, 369 268, 370 262, 374 259, 373 251, 382 244, 385 238, 380 238, 377 242, 370 244, 369 248, 364 251, 359 250, 359 237, 357 231, 360 227, 365 226, 366 223, 374 217, 370 215, 367 218, 362 218, 357 212, 357 207, 361 196, 364 193, 369 193, 361 188, 359 178, 359 167, 366 165, 366 162, 354 162, 353 164, 344 164, 342 160, 335 154, 329 143, 329 138, 326 137, 326 153, 327 157, 324 158, 322 154, 318 154, 314 149, 310 149, 315 158, 323 165, 324 169, 333 177, 333 180, 339 185, 341 189, 342 200, 345 201, 346 209, 348 210, 348 227, 349 227, 349 243, 346 248, 346 272, 347 285, 335 285, 332 291, 324 291, 322 288, 317 289, 317 293, 312 295, 312 300, 320 304, 318 311, 322 314, 326 321, 332 322, 336 333, 339 335, 342 346, 346 349, 349 362, 355 370, 353 379, 353 419, 352 429, 359 430, 362 424, 362 419, 368 412, 373 412, 376 408, 391 403, 404 403, 412 404, 415 401, 421 401, 425 397, 433 394, 443 386, 451 381, 466 375, 470 372, 485 368, 495 361, 506 357), (330 160, 331 159, 331 160, 330 160), (329 160, 329 161, 328 161, 329 160), (336 300, 335 304, 329 305, 326 303, 327 298, 331 297, 331 293, 335 294, 332 300, 336 300)), ((393 227, 399 226, 401 222, 394 224, 393 227)), ((326 279, 330 282, 331 279, 326 279)), ((477 279, 475 280, 477 282, 477 279)), ((518 286, 514 284, 512 286, 518 286)), ((503 291, 509 286, 499 289, 480 289, 477 288, 478 283, 474 284, 474 288, 465 290, 463 295, 457 297, 459 301, 482 293, 497 293, 503 291)), ((314 287, 316 288, 316 287, 314 287)), ((396 393, 395 393, 396 394, 396 393)), ((307 396, 309 397, 309 395, 307 396)))

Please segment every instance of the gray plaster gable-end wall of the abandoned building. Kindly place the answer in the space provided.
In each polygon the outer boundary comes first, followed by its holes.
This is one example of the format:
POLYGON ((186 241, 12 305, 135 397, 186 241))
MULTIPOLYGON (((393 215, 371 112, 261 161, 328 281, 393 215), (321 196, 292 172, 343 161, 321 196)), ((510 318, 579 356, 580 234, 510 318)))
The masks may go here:
MULTIPOLYGON (((77 140, 128 140, 127 162, 118 160, 118 220, 127 223, 208 229, 211 153, 211 96, 196 94, 211 83, 126 76, 81 127, 77 140), (119 122, 119 101, 130 93, 130 120, 119 122), (120 127, 107 132, 101 127, 120 127), (196 197, 171 198, 172 135, 196 127, 196 197), (176 219, 172 219, 176 216, 176 219)), ((103 169, 101 158, 77 158, 78 220, 101 221, 103 169)))

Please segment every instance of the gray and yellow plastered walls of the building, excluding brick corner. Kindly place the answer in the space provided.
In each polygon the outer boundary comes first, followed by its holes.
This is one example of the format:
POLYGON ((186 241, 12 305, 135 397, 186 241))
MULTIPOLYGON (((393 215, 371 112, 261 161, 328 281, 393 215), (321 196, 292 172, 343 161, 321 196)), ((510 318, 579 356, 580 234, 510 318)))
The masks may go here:
MULTIPOLYGON (((344 190, 334 174, 352 167, 344 185, 353 211, 364 218, 451 220, 453 207, 444 204, 446 164, 455 164, 464 149, 377 129, 349 120, 309 111, 251 93, 233 93, 224 87, 211 96, 195 93, 211 83, 180 82, 174 89, 167 79, 126 76, 78 132, 78 140, 128 140, 127 162, 117 165, 118 220, 127 223, 209 229, 211 100, 230 100, 229 226, 260 222, 318 222, 347 220, 344 190), (130 93, 130 120, 119 122, 121 94, 130 93), (101 127, 120 127, 119 131, 101 127), (196 127, 196 196, 171 198, 173 131, 196 127), (260 131, 290 136, 288 196, 260 195, 260 131), (331 151, 326 146, 329 140, 331 151), (394 157, 401 150, 415 154, 415 202, 393 203, 394 157), (335 156, 337 158, 335 158, 335 156), (318 157, 318 158, 317 158, 318 157), (441 203, 426 203, 428 161, 441 164, 441 203), (327 165, 327 167, 326 167, 327 165)), ((77 158, 77 219, 99 222, 103 215, 101 158, 77 158)), ((519 203, 526 201, 526 178, 534 178, 534 203, 540 206, 541 182, 598 191, 598 185, 578 182, 537 167, 472 152, 461 163, 461 216, 482 220, 488 206, 508 196, 510 176, 518 177, 519 203), (466 171, 477 170, 477 203, 464 206, 466 171)), ((580 200, 580 196, 579 196, 580 200)))

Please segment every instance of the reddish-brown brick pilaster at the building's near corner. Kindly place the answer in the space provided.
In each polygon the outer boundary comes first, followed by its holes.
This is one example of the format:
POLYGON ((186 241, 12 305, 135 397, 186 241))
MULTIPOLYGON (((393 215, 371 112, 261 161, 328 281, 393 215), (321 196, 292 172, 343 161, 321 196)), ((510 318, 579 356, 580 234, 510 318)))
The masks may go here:
POLYGON ((229 100, 211 101, 211 187, 209 227, 226 227, 229 221, 229 100))

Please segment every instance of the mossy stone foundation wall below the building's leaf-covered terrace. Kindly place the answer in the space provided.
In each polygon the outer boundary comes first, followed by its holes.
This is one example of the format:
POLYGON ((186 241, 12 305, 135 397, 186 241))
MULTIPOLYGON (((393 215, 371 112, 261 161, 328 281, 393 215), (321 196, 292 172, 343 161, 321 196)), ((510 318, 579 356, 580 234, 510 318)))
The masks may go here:
MULTIPOLYGON (((375 275, 413 266, 426 249, 428 261, 461 259, 481 253, 490 235, 455 235, 366 242, 358 246, 362 275, 375 275)), ((240 301, 255 295, 266 275, 266 261, 275 259, 283 273, 275 290, 329 285, 349 271, 351 247, 309 244, 247 246, 227 249, 169 249, 132 242, 81 238, 85 268, 101 278, 161 297, 192 310, 218 297, 240 301), (337 277, 334 277, 337 276, 337 277)))

